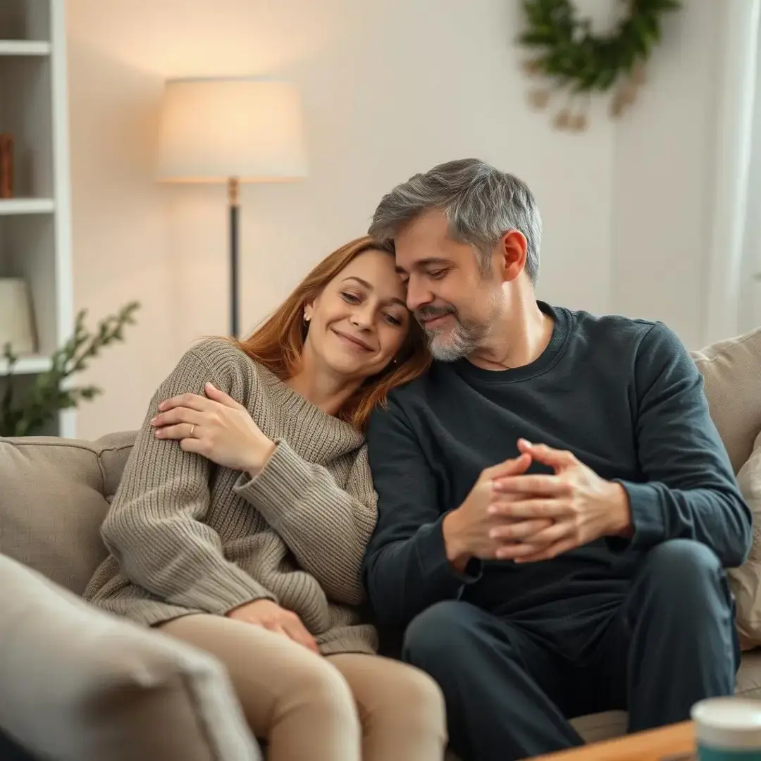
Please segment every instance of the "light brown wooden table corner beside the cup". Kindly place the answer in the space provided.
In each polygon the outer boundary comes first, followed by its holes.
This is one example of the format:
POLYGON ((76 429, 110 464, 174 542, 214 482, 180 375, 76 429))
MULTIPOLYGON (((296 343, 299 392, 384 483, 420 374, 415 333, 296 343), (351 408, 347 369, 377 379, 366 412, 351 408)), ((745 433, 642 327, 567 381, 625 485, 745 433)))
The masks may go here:
POLYGON ((549 756, 540 756, 533 761, 667 761, 672 756, 676 761, 682 755, 686 761, 690 757, 689 753, 694 750, 693 723, 683 721, 670 727, 550 753, 549 756))

